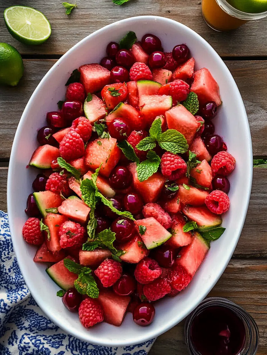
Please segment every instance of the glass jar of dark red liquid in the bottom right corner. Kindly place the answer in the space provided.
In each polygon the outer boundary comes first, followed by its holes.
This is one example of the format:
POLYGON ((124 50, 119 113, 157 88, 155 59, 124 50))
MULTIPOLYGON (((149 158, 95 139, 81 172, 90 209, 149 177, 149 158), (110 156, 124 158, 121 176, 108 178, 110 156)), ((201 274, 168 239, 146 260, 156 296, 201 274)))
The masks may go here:
POLYGON ((190 355, 255 355, 258 328, 243 308, 220 297, 200 303, 187 317, 185 339, 190 355))

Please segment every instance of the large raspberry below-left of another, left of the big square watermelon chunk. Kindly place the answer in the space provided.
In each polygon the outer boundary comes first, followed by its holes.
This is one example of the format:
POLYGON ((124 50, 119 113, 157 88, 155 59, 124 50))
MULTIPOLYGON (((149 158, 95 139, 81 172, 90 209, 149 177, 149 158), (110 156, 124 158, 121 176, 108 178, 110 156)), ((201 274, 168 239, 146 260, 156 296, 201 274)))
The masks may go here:
POLYGON ((59 145, 59 152, 63 159, 73 160, 84 155, 84 143, 79 133, 69 131, 59 145))

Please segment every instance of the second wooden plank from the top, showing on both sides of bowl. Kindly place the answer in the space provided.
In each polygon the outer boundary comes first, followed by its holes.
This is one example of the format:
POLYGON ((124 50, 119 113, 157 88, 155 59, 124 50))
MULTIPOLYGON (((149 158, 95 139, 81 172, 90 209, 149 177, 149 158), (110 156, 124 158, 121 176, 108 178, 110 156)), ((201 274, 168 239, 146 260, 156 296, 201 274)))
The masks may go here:
MULTIPOLYGON (((22 112, 41 78, 56 62, 24 60, 25 74, 16 87, 0 87, 0 158, 10 156, 22 112)), ((267 155, 267 61, 225 61, 240 89, 249 118, 254 155, 267 155), (250 74, 253 73, 253 81, 250 74)))

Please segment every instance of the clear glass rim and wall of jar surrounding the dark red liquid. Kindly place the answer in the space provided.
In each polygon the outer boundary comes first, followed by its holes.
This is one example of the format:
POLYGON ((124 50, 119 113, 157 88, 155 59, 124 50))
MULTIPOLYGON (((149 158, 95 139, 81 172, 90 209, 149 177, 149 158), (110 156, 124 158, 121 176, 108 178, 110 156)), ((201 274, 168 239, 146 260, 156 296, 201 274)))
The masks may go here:
POLYGON ((189 355, 201 355, 195 349, 194 343, 191 338, 191 327, 194 324, 194 319, 202 311, 210 307, 226 307, 229 311, 233 312, 235 316, 244 323, 245 340, 242 349, 237 355, 255 355, 258 348, 258 327, 254 319, 242 307, 234 304, 233 302, 221 297, 210 297, 202 301, 195 310, 187 317, 184 325, 184 335, 187 344, 189 355))

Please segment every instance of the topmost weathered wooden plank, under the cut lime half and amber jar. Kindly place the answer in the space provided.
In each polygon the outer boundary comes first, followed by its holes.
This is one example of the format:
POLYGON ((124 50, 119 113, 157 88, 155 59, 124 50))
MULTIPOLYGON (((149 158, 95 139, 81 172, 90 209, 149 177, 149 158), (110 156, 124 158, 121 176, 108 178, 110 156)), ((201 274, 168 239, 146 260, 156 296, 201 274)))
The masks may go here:
MULTIPOLYGON (((123 6, 116 6, 111 0, 78 1, 71 16, 65 15, 61 2, 27 0, 23 5, 32 6, 44 13, 52 28, 49 40, 37 47, 23 45, 15 40, 0 18, 1 40, 14 45, 23 54, 63 54, 79 40, 97 29, 123 18, 139 15, 164 16, 189 26, 204 37, 222 56, 267 55, 267 19, 252 21, 236 31, 219 33, 209 28, 201 15, 200 0, 130 0, 123 6)), ((2 1, 0 13, 7 4, 2 1)))

